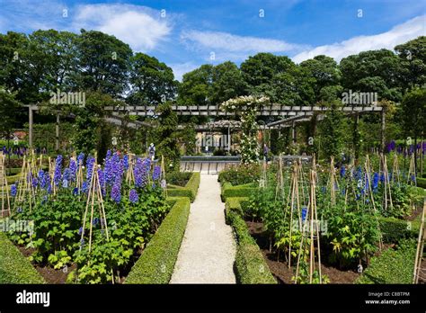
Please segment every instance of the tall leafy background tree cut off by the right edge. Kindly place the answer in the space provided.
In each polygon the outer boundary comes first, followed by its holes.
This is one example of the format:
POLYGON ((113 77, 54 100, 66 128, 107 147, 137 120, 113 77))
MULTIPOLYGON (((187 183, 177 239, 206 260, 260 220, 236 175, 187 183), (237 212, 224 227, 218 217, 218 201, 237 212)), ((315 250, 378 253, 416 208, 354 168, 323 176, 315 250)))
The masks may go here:
POLYGON ((395 47, 401 62, 404 89, 426 84, 426 36, 420 36, 395 47))

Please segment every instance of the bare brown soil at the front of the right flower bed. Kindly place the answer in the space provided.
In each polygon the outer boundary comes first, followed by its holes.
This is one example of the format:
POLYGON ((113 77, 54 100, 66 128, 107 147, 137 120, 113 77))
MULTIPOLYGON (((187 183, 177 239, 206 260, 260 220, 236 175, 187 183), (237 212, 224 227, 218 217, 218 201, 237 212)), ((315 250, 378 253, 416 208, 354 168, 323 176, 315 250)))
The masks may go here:
MULTIPOLYGON (((288 263, 285 262, 284 255, 280 255, 280 262, 277 261, 278 255, 275 251, 270 252, 270 240, 265 235, 263 230, 263 224, 261 222, 245 221, 249 228, 250 234, 254 237, 257 244, 262 250, 262 255, 268 264, 272 275, 280 283, 294 283, 291 281, 291 277, 294 276, 294 270, 296 264, 291 264, 292 268, 288 269, 288 263)), ((326 255, 324 255, 326 256, 326 255)), ((322 254, 323 258, 326 259, 322 254)), ((359 277, 359 273, 356 272, 356 268, 353 270, 340 270, 331 264, 323 262, 321 264, 321 273, 327 275, 330 283, 353 283, 359 277)))

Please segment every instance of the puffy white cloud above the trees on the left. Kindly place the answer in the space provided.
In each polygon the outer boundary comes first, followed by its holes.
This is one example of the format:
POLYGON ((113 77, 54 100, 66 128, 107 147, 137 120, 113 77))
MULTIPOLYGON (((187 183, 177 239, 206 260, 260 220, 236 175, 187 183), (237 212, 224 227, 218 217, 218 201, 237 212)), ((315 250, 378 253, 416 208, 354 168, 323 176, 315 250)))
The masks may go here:
POLYGON ((146 52, 166 40, 172 26, 159 11, 132 4, 86 4, 75 8, 73 29, 102 31, 146 52))

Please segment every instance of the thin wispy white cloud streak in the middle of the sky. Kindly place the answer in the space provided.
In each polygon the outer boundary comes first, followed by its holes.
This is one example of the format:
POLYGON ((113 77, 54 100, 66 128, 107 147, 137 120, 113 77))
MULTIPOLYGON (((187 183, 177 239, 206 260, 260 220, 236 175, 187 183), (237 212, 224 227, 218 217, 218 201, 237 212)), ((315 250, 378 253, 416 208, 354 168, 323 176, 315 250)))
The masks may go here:
POLYGON ((195 49, 210 49, 215 52, 285 52, 302 49, 301 46, 283 40, 237 36, 220 31, 182 31, 182 42, 195 49))

